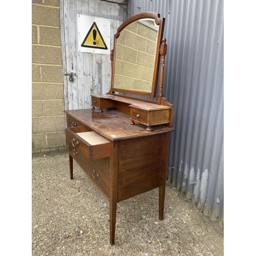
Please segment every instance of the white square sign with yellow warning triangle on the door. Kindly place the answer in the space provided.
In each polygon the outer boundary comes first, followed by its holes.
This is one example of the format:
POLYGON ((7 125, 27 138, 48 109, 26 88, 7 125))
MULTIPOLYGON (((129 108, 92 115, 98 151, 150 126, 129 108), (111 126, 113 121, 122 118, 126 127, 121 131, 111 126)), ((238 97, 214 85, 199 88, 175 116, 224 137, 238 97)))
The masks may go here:
POLYGON ((77 15, 78 51, 110 54, 110 19, 77 15))

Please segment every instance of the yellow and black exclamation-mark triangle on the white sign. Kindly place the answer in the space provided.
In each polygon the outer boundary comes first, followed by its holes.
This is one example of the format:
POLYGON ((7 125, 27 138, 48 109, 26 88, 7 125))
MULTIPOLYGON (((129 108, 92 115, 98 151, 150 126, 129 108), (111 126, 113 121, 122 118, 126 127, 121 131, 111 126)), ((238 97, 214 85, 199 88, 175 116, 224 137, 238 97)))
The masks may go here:
POLYGON ((81 47, 88 47, 88 48, 96 48, 96 49, 105 49, 108 50, 104 39, 97 27, 96 22, 93 23, 92 27, 90 28, 89 32, 87 33, 86 37, 84 38, 81 47))

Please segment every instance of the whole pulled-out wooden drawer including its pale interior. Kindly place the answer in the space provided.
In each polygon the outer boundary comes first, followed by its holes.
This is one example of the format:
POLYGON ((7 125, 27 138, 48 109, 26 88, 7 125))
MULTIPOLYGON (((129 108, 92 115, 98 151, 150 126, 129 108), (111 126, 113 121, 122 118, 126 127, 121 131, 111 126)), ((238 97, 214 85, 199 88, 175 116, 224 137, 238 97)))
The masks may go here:
POLYGON ((110 141, 86 126, 70 127, 66 131, 69 152, 75 158, 96 160, 110 157, 110 141))

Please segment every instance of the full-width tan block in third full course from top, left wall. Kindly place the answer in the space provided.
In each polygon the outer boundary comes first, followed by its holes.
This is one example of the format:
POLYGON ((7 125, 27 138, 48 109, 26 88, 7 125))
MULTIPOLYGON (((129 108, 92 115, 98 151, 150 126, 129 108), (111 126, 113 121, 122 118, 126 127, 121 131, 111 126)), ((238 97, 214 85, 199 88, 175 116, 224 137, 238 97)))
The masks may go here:
POLYGON ((32 63, 62 65, 61 48, 32 45, 32 63))

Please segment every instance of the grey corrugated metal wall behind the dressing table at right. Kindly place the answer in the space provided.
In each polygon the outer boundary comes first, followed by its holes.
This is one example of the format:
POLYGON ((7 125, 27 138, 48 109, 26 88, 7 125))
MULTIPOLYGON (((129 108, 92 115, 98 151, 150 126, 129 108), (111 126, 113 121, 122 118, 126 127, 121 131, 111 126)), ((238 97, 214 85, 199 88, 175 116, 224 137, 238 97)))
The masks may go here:
POLYGON ((131 0, 127 17, 146 11, 165 17, 168 180, 223 226, 223 0, 131 0))

